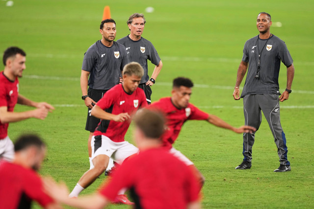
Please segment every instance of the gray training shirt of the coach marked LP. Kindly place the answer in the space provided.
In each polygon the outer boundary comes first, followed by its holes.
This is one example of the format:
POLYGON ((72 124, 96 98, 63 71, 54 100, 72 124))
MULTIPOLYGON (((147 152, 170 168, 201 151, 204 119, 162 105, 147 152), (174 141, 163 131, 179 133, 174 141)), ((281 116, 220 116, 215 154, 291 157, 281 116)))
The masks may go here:
POLYGON ((133 41, 129 36, 123 37, 117 42, 126 47, 130 62, 138 62, 143 67, 144 75, 141 83, 146 83, 149 80, 147 60, 150 60, 154 65, 159 65, 160 62, 153 44, 143 37, 138 41, 133 41))

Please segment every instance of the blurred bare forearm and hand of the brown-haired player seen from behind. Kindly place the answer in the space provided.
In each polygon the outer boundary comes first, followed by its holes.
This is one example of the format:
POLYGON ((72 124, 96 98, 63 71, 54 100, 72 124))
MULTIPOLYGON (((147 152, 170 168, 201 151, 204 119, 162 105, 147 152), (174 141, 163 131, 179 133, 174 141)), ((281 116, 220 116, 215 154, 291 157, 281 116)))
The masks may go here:
POLYGON ((57 184, 52 178, 44 178, 43 183, 45 192, 52 199, 68 206, 80 209, 103 209, 109 203, 109 200, 97 193, 84 197, 69 198, 68 187, 64 183, 57 184))

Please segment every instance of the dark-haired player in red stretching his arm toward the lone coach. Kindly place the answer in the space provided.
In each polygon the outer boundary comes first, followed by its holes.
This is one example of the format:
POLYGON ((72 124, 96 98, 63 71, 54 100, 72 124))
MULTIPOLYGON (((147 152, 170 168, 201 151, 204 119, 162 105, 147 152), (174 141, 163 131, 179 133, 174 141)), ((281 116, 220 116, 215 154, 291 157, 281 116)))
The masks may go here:
POLYGON ((178 77, 173 80, 171 97, 161 98, 153 102, 149 108, 162 111, 167 119, 167 131, 163 135, 163 145, 169 149, 169 152, 188 165, 200 181, 200 187, 204 184, 204 177, 195 167, 195 165, 186 158, 180 151, 172 147, 172 144, 178 138, 183 123, 186 120, 207 120, 209 123, 229 130, 235 133, 254 132, 256 129, 251 126, 241 126, 235 128, 217 116, 209 115, 189 103, 192 94, 193 83, 190 79, 178 77))

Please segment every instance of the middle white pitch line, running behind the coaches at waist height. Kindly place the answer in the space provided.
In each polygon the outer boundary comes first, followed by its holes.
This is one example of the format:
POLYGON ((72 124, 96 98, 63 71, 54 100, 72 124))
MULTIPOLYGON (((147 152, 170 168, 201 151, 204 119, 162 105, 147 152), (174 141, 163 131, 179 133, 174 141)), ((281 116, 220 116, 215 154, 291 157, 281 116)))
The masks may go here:
MULTIPOLYGON (((41 75, 23 75, 24 78, 29 79, 39 79, 39 80, 67 80, 67 81, 79 81, 78 78, 74 77, 57 77, 57 76, 41 76, 41 75)), ((172 83, 169 82, 158 82, 156 85, 158 86, 172 86, 172 83)), ((207 84, 194 84, 196 88, 203 88, 203 89, 220 89, 220 90, 233 90, 233 86, 216 86, 216 85, 207 85, 207 84)), ((283 92, 284 90, 282 90, 283 92)), ((292 89, 293 93, 304 93, 304 94, 314 94, 314 91, 303 91, 303 90, 294 90, 292 89)))

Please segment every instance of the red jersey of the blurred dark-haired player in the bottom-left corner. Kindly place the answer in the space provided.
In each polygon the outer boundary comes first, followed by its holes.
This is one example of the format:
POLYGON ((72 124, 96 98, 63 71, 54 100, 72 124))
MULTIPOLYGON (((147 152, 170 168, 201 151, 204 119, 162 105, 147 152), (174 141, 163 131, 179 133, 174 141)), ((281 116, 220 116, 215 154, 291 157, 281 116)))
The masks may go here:
POLYGON ((0 162, 0 209, 30 208, 35 200, 42 207, 53 203, 43 191, 39 175, 21 165, 0 162))

